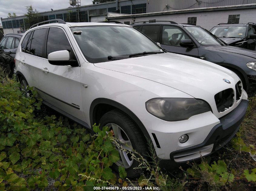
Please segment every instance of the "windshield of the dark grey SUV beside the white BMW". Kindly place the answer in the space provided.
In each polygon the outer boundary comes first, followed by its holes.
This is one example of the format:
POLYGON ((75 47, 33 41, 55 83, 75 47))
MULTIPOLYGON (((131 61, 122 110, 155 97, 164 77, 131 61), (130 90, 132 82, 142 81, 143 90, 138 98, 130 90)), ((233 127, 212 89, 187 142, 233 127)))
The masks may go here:
POLYGON ((224 46, 225 44, 201 27, 185 27, 202 46, 224 46))

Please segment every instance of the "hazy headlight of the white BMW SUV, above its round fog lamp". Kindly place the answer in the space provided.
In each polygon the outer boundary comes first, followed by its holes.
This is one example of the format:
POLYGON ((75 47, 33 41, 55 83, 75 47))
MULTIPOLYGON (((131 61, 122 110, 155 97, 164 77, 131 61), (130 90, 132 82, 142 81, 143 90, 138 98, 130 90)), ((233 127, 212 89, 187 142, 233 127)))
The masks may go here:
POLYGON ((210 105, 195 98, 153 98, 146 102, 148 113, 165 121, 180 121, 211 111, 210 105))

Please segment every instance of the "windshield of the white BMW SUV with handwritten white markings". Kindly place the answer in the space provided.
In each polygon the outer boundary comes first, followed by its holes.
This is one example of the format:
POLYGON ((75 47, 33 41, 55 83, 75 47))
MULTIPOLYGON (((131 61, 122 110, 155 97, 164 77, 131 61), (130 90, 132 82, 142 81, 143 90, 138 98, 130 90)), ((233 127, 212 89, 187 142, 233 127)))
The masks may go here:
POLYGON ((132 27, 83 26, 72 27, 71 30, 85 58, 91 63, 144 56, 148 52, 163 53, 159 46, 132 27))

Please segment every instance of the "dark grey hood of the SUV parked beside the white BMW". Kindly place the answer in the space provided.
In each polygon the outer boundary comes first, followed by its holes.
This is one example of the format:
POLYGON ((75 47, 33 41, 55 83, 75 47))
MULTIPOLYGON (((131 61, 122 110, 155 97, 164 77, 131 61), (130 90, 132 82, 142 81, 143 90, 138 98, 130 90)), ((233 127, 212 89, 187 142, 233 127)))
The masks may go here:
POLYGON ((240 54, 243 56, 249 56, 251 58, 256 59, 256 51, 248 50, 240 47, 235 46, 205 46, 208 50, 217 50, 217 51, 224 51, 227 53, 233 53, 233 54, 240 54))

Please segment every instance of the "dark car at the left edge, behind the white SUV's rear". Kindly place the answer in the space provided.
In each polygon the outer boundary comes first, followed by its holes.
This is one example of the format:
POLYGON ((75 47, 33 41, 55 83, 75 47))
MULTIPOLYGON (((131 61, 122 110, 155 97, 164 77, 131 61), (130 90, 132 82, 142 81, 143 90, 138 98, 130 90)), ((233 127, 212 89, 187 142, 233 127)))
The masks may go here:
POLYGON ((15 54, 23 34, 7 34, 0 41, 0 65, 12 76, 15 74, 15 54))

